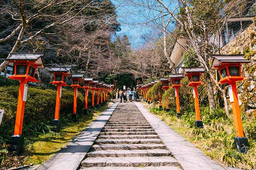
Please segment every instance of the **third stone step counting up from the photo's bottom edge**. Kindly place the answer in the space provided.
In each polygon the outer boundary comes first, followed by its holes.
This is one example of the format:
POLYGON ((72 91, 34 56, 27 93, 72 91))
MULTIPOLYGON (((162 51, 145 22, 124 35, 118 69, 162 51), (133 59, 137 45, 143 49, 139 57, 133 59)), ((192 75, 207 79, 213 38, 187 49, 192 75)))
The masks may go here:
POLYGON ((170 156, 165 149, 137 149, 137 150, 90 150, 87 157, 130 157, 130 156, 170 156))

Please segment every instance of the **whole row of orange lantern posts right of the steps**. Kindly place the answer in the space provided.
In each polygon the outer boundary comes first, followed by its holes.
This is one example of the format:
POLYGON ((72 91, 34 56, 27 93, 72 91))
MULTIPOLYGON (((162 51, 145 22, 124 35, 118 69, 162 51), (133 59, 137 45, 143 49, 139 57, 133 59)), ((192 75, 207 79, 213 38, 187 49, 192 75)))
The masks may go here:
MULTIPOLYGON (((234 144, 239 152, 247 152, 248 151, 248 139, 244 136, 244 131, 242 127, 242 119, 240 115, 240 108, 238 103, 238 95, 236 89, 236 82, 247 80, 248 78, 241 76, 241 64, 250 63, 250 61, 244 58, 244 55, 212 55, 213 61, 211 69, 218 69, 220 73, 220 81, 218 84, 228 83, 228 90, 230 96, 230 102, 232 105, 232 111, 234 116, 234 125, 236 131, 236 137, 234 137, 234 144)), ((196 112, 196 121, 195 127, 203 128, 203 121, 200 116, 200 107, 198 101, 198 86, 204 84, 201 82, 201 75, 206 72, 204 67, 190 67, 183 68, 183 74, 170 74, 169 78, 160 78, 160 82, 162 83, 162 89, 168 90, 169 82, 172 81, 172 88, 175 88, 175 96, 176 96, 176 110, 177 116, 182 116, 180 113, 180 102, 179 102, 179 90, 181 85, 181 80, 185 76, 188 77, 189 83, 187 86, 193 87, 193 97, 195 104, 195 112, 196 112)), ((155 81, 156 82, 156 81, 155 81)), ((145 102, 152 102, 152 99, 148 99, 147 93, 148 90, 154 85, 155 82, 151 82, 148 84, 138 84, 137 87, 141 90, 141 95, 143 95, 143 100, 145 102)), ((159 92, 159 108, 162 108, 162 96, 161 92, 159 92)), ((166 105, 166 111, 169 111, 168 104, 166 105)))

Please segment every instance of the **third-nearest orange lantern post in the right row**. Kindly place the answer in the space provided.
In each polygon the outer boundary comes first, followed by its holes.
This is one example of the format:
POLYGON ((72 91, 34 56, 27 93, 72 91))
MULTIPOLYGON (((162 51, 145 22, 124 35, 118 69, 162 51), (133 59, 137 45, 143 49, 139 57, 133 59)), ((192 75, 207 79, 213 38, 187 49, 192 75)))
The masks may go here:
POLYGON ((172 81, 172 88, 175 88, 175 96, 176 96, 176 109, 177 116, 180 117, 182 113, 180 113, 180 97, 179 97, 179 88, 182 86, 180 81, 183 78, 183 74, 169 74, 169 79, 172 81))

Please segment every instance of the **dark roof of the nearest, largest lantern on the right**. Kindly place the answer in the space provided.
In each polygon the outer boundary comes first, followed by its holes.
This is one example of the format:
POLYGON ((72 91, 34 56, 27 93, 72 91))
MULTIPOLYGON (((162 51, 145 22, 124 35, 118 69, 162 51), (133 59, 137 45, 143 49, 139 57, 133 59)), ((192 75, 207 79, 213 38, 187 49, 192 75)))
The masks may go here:
POLYGON ((212 66, 220 66, 222 63, 250 63, 244 58, 244 54, 240 55, 212 55, 212 66))

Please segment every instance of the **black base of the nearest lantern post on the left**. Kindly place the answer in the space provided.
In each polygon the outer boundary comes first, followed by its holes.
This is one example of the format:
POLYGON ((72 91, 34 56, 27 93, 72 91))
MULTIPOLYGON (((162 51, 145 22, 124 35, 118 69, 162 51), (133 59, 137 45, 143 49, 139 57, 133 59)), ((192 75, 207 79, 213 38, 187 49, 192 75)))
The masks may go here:
POLYGON ((18 155, 23 152, 24 135, 11 136, 11 152, 16 152, 18 155))

